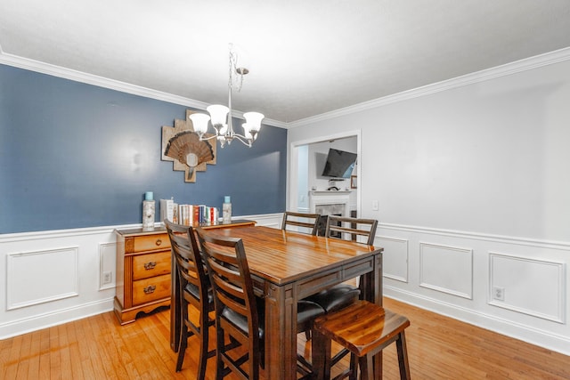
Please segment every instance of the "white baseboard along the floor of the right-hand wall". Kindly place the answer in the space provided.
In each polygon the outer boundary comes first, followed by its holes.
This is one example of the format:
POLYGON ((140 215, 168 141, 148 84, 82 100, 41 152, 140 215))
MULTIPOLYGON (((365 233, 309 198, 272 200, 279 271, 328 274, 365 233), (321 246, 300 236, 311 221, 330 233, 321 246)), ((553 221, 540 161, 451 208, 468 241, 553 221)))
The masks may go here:
POLYGON ((503 336, 522 340, 549 350, 570 355, 570 337, 559 336, 525 324, 501 319, 480 311, 473 311, 456 304, 445 303, 434 298, 407 292, 397 287, 384 286, 384 296, 409 303, 421 309, 434 311, 437 314, 458 319, 462 322, 494 331, 503 336))

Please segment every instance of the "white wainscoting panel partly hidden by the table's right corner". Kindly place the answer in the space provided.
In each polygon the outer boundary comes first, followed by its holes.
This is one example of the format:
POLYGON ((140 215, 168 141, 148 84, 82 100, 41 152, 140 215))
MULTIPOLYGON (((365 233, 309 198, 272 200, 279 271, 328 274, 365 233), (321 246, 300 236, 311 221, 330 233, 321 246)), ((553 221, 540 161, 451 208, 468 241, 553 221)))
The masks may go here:
POLYGON ((374 244, 384 248, 384 277, 408 282, 408 240, 377 236, 374 244))

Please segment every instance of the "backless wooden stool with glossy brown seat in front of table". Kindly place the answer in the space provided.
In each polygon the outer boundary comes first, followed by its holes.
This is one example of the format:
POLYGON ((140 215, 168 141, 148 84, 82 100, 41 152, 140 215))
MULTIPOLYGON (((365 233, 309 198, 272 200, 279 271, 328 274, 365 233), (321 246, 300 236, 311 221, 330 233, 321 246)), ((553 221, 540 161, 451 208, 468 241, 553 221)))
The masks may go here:
MULTIPOLYGON (((395 343, 400 378, 410 379, 404 333, 409 326, 410 321, 403 315, 363 300, 315 319, 313 330, 315 378, 330 379, 330 345, 331 341, 335 341, 351 352, 351 362, 354 358, 358 358, 361 380, 374 379, 374 356, 389 344, 395 343)), ((346 376, 350 380, 356 380, 357 368, 351 366, 335 379, 346 376)))

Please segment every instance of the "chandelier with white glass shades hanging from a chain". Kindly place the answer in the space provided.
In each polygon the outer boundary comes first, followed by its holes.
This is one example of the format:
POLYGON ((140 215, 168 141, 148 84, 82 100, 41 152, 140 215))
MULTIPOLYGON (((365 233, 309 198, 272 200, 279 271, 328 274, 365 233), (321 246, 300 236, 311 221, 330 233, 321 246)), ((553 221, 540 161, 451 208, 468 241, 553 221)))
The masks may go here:
POLYGON ((246 122, 241 125, 243 128, 243 134, 235 133, 232 124, 232 86, 234 85, 234 80, 236 81, 236 87, 238 92, 241 90, 241 85, 243 84, 243 77, 248 74, 249 70, 238 66, 238 54, 233 50, 232 44, 230 44, 230 74, 228 81, 228 106, 225 107, 221 104, 214 104, 208 106, 206 109, 209 115, 205 113, 193 113, 190 115, 192 125, 194 126, 194 132, 198 133, 199 140, 205 141, 216 138, 220 141, 220 146, 224 148, 225 143, 228 145, 232 143, 234 139, 243 142, 248 147, 251 147, 253 141, 256 141, 257 133, 261 128, 261 120, 264 118, 263 114, 259 112, 246 112, 243 114, 246 122), (234 75, 237 75, 234 78, 234 75), (211 122, 212 127, 216 131, 213 136, 205 137, 205 133, 208 131, 208 121, 211 122))

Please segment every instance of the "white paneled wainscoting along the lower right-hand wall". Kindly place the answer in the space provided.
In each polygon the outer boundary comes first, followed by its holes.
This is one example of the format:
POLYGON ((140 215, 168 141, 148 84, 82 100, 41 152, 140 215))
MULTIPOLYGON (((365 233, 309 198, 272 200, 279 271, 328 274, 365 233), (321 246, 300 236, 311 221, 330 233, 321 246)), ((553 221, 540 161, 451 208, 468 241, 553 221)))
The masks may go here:
POLYGON ((384 295, 570 355, 569 242, 379 223, 375 245, 384 295))

